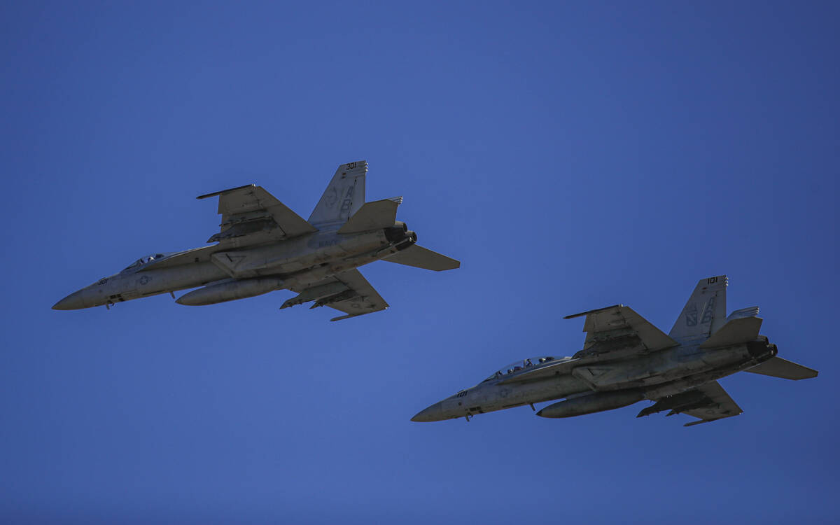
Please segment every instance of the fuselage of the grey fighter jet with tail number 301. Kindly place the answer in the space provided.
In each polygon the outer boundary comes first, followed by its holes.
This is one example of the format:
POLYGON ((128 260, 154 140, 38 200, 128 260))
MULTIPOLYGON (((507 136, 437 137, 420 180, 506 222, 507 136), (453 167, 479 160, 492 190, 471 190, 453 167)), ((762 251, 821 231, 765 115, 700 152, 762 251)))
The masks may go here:
POLYGON ((246 248, 218 244, 213 247, 218 249, 152 255, 72 293, 53 308, 112 305, 198 286, 205 287, 178 302, 193 306, 254 297, 322 281, 395 254, 417 240, 402 223, 361 234, 338 234, 337 229, 246 248))

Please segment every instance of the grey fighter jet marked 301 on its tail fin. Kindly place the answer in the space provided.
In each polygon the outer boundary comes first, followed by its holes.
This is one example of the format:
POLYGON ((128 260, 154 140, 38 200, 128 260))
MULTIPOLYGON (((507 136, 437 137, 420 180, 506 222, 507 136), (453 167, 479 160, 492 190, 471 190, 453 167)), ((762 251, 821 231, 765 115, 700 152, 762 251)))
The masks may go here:
POLYGON ((339 166, 307 220, 261 186, 249 184, 197 198, 218 197, 221 231, 202 248, 148 255, 113 276, 71 293, 56 310, 106 306, 196 288, 177 299, 197 306, 297 292, 281 308, 303 302, 354 318, 388 307, 357 267, 375 260, 428 270, 452 270, 459 261, 417 244, 396 220, 402 197, 365 202, 365 160, 339 166))

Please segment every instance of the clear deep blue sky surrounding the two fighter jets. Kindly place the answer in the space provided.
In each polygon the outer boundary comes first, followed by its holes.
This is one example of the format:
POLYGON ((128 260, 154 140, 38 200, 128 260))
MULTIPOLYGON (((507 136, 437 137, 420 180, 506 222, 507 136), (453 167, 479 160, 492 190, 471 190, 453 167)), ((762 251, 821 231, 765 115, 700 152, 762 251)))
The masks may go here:
POLYGON ((837 3, 3 3, 0 521, 837 519, 837 3), (307 217, 336 166, 462 261, 361 270, 341 323, 168 296, 52 304, 201 246, 255 182, 307 217), (412 423, 622 302, 667 332, 726 273, 811 381, 742 416, 643 403, 412 423))

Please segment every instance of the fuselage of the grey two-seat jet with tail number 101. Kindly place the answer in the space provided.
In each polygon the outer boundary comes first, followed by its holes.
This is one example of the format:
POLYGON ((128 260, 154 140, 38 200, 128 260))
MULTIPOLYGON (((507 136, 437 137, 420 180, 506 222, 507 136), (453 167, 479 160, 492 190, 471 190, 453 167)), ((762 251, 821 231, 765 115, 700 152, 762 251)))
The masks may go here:
POLYGON ((418 412, 431 422, 566 398, 543 408, 543 417, 570 417, 625 407, 716 381, 768 360, 775 345, 764 336, 747 344, 704 349, 700 342, 637 357, 531 358, 418 412))

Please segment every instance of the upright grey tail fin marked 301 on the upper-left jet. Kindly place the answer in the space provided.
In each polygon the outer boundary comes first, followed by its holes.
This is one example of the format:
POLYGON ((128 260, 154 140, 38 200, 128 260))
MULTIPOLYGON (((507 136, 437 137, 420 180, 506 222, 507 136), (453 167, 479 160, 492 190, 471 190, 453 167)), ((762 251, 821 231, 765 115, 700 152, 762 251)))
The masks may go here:
POLYGON ((367 161, 339 165, 308 223, 315 226, 343 224, 365 203, 367 161))

